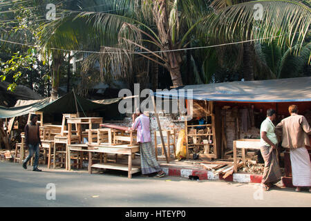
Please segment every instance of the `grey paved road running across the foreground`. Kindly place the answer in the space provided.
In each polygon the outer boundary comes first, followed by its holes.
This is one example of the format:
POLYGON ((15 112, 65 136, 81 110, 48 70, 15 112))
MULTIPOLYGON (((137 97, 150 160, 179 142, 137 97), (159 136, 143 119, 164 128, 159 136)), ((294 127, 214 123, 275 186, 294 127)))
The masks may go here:
POLYGON ((311 206, 311 193, 294 189, 261 192, 256 184, 41 169, 0 162, 0 206, 311 206), (49 183, 56 200, 46 200, 49 183))

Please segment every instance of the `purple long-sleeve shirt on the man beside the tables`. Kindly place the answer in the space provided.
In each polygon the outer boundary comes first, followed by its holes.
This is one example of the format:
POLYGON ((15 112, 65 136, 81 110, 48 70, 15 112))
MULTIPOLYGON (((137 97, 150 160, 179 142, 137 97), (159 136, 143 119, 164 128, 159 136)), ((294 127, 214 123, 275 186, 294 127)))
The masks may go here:
POLYGON ((137 142, 151 142, 149 117, 144 114, 140 115, 135 119, 132 128, 137 130, 137 142))

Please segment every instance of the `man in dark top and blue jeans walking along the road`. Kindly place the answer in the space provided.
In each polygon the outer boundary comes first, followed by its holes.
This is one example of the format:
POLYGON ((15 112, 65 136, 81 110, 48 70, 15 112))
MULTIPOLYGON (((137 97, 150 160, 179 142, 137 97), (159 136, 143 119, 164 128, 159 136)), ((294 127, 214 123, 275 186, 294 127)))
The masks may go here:
POLYGON ((37 124, 38 116, 31 115, 30 123, 25 126, 25 144, 28 147, 28 156, 25 160, 23 160, 23 169, 27 169, 27 162, 32 157, 33 153, 35 153, 35 162, 33 163, 32 171, 41 171, 38 169, 38 161, 39 161, 39 144, 42 147, 40 134, 39 134, 39 125, 37 124))

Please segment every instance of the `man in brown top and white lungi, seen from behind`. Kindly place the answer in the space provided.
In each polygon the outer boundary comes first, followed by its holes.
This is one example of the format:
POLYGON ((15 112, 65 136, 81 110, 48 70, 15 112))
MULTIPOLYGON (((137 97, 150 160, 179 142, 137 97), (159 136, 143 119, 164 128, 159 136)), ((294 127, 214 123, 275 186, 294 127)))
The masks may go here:
POLYGON ((290 117, 283 119, 276 130, 282 133, 282 146, 290 148, 290 163, 292 164, 292 184, 296 191, 301 191, 301 186, 309 188, 311 192, 311 162, 307 148, 310 146, 308 134, 311 129, 307 119, 298 115, 298 106, 288 108, 290 117))

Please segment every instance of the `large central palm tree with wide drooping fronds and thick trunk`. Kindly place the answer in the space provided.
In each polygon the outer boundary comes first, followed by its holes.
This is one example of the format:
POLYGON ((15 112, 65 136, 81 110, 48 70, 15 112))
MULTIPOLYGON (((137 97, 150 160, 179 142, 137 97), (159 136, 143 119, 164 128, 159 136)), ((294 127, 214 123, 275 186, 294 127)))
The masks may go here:
MULTIPOLYGON (((205 44, 210 44, 211 40, 232 42, 261 39, 261 42, 271 42, 279 36, 279 45, 286 44, 290 48, 296 45, 296 52, 299 52, 311 21, 310 7, 286 0, 233 3, 216 0, 211 5, 204 0, 79 2, 81 6, 94 4, 97 11, 80 12, 78 15, 73 12, 64 20, 47 24, 43 32, 48 35, 41 41, 44 46, 48 45, 50 39, 57 39, 56 35, 60 32, 63 38, 74 40, 77 40, 77 36, 86 36, 83 39, 93 36, 93 43, 100 45, 102 52, 97 57, 93 56, 94 59, 100 56, 104 64, 114 66, 124 75, 132 68, 135 57, 142 56, 167 69, 173 86, 182 85, 180 67, 184 60, 184 49, 194 39, 203 39, 205 44), (256 3, 261 3, 264 8, 263 20, 254 19, 256 3), (96 7, 100 5, 104 5, 103 11, 96 7), (95 35, 85 30, 74 30, 72 27, 77 21, 91 27, 95 35), (72 31, 62 31, 59 27, 70 27, 72 31), (49 29, 53 31, 46 31, 49 29), (157 48, 156 52, 151 48, 157 48)), ((66 48, 64 42, 62 46, 66 48)), ((246 48, 245 53, 248 51, 246 48)))

